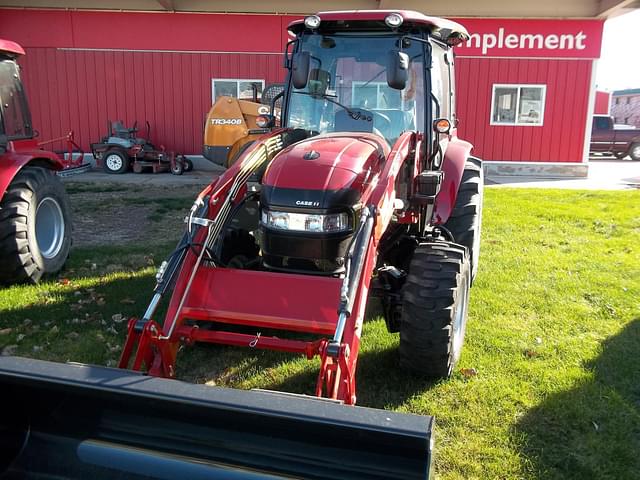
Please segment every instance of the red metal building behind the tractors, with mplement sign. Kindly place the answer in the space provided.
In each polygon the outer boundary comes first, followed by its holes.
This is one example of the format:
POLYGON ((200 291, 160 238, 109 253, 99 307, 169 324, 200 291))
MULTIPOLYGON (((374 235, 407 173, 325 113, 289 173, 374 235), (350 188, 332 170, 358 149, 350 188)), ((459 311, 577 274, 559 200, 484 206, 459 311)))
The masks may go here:
MULTIPOLYGON (((159 2, 162 3, 162 2, 159 2)), ((148 120, 152 139, 199 154, 215 96, 282 81, 299 15, 0 9, 41 138, 72 129, 86 148, 108 119, 148 120), (216 93, 217 92, 217 93, 216 93)), ((462 138, 494 173, 584 175, 602 18, 456 18, 462 138)))

